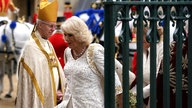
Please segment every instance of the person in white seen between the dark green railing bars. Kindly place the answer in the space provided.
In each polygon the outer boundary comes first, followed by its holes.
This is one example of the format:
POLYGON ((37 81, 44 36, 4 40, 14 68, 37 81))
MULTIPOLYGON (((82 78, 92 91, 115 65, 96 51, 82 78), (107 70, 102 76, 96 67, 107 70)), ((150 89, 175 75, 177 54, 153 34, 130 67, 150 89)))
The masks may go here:
MULTIPOLYGON (((146 40, 148 27, 144 27, 143 37, 143 98, 147 99, 150 96, 150 43, 146 40)), ((160 41, 156 44, 156 73, 159 70, 161 60, 163 59, 163 28, 158 27, 158 34, 160 35, 160 41)), ((131 91, 136 95, 137 85, 135 85, 131 91)), ((149 108, 149 101, 147 100, 147 108, 149 108)))

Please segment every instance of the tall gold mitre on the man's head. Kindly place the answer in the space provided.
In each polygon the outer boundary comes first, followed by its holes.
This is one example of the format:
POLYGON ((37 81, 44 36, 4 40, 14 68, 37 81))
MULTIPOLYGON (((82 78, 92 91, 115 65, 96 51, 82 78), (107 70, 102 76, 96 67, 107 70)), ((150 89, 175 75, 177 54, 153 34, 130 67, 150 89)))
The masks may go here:
POLYGON ((41 0, 38 11, 38 19, 49 22, 56 22, 58 11, 58 2, 54 0, 49 2, 41 0))

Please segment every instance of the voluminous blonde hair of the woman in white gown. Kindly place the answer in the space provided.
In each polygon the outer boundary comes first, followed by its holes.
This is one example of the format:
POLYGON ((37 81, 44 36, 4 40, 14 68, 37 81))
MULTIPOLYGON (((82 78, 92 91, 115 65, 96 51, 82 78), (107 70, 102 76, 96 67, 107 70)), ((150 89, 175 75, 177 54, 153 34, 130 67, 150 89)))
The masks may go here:
POLYGON ((68 18, 62 25, 61 29, 66 34, 73 34, 76 41, 89 45, 92 42, 92 34, 85 22, 77 16, 68 18))

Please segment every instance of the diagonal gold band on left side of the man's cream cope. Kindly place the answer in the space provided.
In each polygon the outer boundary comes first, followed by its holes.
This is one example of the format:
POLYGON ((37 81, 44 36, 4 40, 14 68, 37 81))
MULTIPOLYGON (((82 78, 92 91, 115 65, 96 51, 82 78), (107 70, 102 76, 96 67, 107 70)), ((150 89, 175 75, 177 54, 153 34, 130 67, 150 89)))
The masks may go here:
POLYGON ((37 83, 37 80, 35 78, 35 75, 33 74, 32 70, 30 69, 30 67, 24 62, 24 58, 21 58, 21 61, 20 61, 24 67, 24 69, 27 71, 27 73, 29 74, 32 82, 33 82, 33 85, 36 89, 36 92, 37 92, 37 95, 41 101, 41 103, 44 105, 44 97, 43 97, 43 94, 41 92, 41 89, 37 83))

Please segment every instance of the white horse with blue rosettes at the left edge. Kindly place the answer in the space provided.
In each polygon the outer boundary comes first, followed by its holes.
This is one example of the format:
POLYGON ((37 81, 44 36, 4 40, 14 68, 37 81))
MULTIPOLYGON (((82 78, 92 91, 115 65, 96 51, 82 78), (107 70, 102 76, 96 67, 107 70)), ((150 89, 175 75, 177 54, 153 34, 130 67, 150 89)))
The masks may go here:
POLYGON ((16 72, 17 59, 33 28, 33 25, 29 23, 15 22, 16 27, 11 29, 10 24, 12 22, 0 26, 0 92, 3 92, 3 77, 6 72, 10 83, 10 89, 6 97, 11 97, 13 91, 12 74, 16 72))

